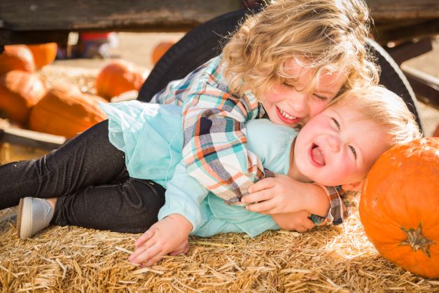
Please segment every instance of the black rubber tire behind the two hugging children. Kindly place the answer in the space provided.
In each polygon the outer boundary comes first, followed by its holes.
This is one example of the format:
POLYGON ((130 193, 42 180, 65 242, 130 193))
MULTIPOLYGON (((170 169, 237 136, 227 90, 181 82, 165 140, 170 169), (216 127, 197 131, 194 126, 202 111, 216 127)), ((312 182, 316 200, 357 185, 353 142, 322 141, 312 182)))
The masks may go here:
MULTIPOLYGON (((253 13, 253 11, 246 9, 226 13, 190 30, 155 64, 151 74, 142 85, 137 100, 149 102, 153 95, 165 88, 169 81, 182 79, 193 69, 219 55, 221 53, 221 40, 229 32, 234 32, 237 29, 240 20, 244 18, 246 13, 253 13)), ((403 98, 407 107, 414 114, 419 128, 422 129, 416 96, 403 71, 378 43, 368 39, 368 46, 377 57, 377 62, 381 67, 379 83, 403 98)))

